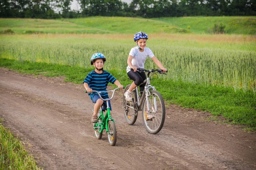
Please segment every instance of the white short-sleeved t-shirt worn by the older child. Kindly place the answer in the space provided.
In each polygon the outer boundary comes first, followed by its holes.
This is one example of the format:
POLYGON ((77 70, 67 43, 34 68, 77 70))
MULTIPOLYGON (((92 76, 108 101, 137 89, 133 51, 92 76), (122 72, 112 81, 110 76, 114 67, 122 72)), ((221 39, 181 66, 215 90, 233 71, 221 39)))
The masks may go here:
MULTIPOLYGON (((152 58, 154 57, 153 52, 151 49, 145 47, 143 52, 140 52, 138 47, 131 48, 129 55, 133 56, 131 60, 131 64, 137 68, 144 68, 144 62, 147 57, 152 58)), ((126 68, 126 72, 128 73, 131 71, 130 66, 128 65, 126 68)))

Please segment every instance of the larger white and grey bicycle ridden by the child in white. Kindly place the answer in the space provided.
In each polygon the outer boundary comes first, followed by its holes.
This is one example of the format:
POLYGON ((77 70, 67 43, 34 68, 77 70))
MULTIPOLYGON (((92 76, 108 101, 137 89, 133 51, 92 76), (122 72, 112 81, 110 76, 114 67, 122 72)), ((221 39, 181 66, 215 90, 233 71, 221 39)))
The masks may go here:
MULTIPOLYGON (((156 91, 154 86, 150 84, 150 77, 153 76, 154 72, 159 74, 165 74, 161 69, 146 70, 144 68, 137 68, 137 71, 147 72, 147 78, 143 83, 146 82, 143 94, 140 95, 138 85, 132 91, 132 102, 125 100, 123 95, 123 109, 125 113, 125 120, 129 125, 133 125, 138 116, 138 111, 142 111, 143 124, 148 133, 156 134, 160 132, 165 121, 165 104, 161 94, 156 91)), ((124 93, 129 89, 131 84, 127 85, 124 93)))

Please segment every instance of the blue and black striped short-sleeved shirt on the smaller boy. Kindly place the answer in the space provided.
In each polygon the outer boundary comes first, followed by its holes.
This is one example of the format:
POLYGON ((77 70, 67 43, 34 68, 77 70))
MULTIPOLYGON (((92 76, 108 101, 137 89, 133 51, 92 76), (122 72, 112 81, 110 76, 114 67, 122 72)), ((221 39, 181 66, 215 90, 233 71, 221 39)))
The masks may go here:
MULTIPOLYGON (((108 83, 111 82, 114 84, 116 78, 113 77, 108 71, 103 70, 103 73, 96 73, 94 70, 91 71, 84 79, 83 83, 87 83, 89 88, 94 91, 107 91, 108 83)), ((96 93, 88 93, 90 99, 93 99, 93 96, 96 93)), ((103 99, 108 99, 108 92, 101 93, 103 99)))

